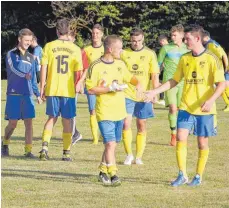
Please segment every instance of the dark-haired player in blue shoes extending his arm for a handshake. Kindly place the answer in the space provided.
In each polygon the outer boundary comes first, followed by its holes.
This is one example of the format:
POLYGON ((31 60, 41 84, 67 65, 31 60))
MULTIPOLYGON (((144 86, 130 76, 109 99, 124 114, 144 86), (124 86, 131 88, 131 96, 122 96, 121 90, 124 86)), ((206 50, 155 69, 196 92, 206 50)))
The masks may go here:
POLYGON ((175 87, 183 78, 184 88, 177 119, 176 156, 179 174, 172 186, 188 183, 186 173, 187 139, 193 129, 197 136, 199 157, 190 186, 201 184, 202 175, 207 163, 209 146, 208 137, 215 136, 214 115, 215 100, 225 89, 224 71, 219 59, 205 49, 202 44, 203 28, 190 25, 185 28, 185 43, 191 52, 183 55, 172 79, 162 86, 146 93, 145 102, 149 102, 156 94, 175 87), (214 88, 214 84, 217 87, 214 88))

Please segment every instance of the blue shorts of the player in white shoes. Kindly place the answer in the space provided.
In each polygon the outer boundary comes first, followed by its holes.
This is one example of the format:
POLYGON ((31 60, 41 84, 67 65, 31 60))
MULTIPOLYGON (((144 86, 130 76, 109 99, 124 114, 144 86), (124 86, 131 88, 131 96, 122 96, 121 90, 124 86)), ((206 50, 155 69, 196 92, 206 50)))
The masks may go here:
POLYGON ((126 98, 126 112, 139 119, 154 117, 152 103, 136 102, 126 98))

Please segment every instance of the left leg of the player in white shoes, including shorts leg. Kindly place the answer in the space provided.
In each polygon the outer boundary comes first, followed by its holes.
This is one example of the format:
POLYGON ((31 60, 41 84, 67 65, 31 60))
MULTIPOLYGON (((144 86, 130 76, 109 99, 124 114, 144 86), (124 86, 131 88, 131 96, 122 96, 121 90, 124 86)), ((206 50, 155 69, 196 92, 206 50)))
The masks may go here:
POLYGON ((132 153, 132 114, 134 112, 136 102, 130 99, 126 99, 126 111, 128 116, 124 119, 123 131, 122 131, 122 138, 123 138, 123 145, 126 152, 126 159, 124 161, 124 165, 131 165, 132 161, 134 160, 134 156, 132 153))

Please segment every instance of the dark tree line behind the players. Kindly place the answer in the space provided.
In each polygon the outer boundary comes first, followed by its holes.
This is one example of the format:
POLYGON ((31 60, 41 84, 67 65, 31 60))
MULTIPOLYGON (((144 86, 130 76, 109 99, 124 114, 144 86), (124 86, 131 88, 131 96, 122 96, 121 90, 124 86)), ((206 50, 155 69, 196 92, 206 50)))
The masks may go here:
POLYGON ((199 24, 208 30, 211 37, 229 51, 229 2, 170 2, 170 1, 58 1, 58 2, 1 2, 1 59, 2 78, 6 78, 5 55, 16 46, 17 34, 22 28, 30 28, 44 46, 56 39, 55 22, 68 18, 77 29, 76 43, 83 47, 90 43, 90 28, 100 23, 105 35, 118 34, 129 44, 129 33, 133 27, 145 32, 145 43, 158 50, 160 34, 169 36, 175 24, 199 24))

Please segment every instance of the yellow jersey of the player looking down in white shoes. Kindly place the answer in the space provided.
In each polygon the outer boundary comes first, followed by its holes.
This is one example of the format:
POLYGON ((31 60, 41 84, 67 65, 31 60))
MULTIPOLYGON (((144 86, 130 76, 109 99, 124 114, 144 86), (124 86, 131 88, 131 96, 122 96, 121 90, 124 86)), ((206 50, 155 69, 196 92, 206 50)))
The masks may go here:
MULTIPOLYGON (((147 47, 138 51, 128 48, 123 51, 121 59, 126 63, 130 73, 137 77, 143 90, 149 90, 151 74, 160 73, 156 53, 147 47)), ((141 98, 137 98, 135 86, 132 84, 128 84, 125 96, 131 100, 143 102, 141 98)))

